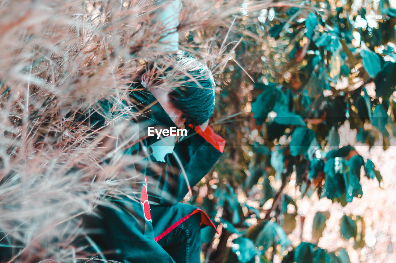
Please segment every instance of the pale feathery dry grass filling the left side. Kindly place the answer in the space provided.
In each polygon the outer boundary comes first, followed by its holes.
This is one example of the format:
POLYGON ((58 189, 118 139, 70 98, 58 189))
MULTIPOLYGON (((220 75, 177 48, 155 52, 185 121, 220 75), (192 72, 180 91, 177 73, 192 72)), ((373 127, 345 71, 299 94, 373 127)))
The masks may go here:
MULTIPOLYGON (((79 216, 105 204, 105 196, 134 192, 130 182, 139 175, 125 167, 139 157, 120 149, 139 136, 116 118, 102 130, 76 119, 102 98, 128 100, 126 84, 145 63, 168 63, 156 51, 156 2, 0 1, 0 244, 12 255, 4 262, 97 256, 72 242, 85 235, 79 216)), ((181 40, 188 30, 230 24, 241 4, 184 2, 181 40)), ((244 4, 258 10, 271 2, 244 4)), ((195 53, 221 70, 224 51, 208 39, 195 53)))

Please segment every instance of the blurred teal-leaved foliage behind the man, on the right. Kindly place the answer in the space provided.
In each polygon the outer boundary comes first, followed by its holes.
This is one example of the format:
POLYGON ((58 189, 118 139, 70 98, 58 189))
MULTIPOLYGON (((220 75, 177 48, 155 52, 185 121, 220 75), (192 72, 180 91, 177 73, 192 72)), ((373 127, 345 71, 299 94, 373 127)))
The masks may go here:
MULTIPOLYGON (((396 9, 388 0, 295 1, 259 11, 244 3, 232 23, 185 38, 199 47, 216 36, 210 48, 224 48, 228 60, 213 67, 221 88, 214 127, 227 147, 189 200, 222 229, 203 229, 202 261, 348 263, 347 247, 318 246, 329 211, 304 226, 296 203, 316 195, 345 206, 364 194, 361 177, 381 187, 371 160, 340 147, 339 129, 347 125, 356 141, 384 150, 396 134, 396 9), (303 226, 312 239, 289 239, 303 226)), ((365 246, 361 216, 339 222, 357 251, 365 246)))

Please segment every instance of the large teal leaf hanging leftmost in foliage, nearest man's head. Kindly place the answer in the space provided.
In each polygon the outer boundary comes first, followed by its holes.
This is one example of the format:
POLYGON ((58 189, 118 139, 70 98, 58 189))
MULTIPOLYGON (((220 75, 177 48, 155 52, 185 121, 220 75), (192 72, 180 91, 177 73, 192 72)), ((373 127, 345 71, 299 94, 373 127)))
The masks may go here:
POLYGON ((254 114, 253 117, 256 119, 257 124, 263 124, 268 113, 274 108, 277 92, 278 90, 275 87, 267 88, 257 96, 255 102, 251 103, 251 112, 254 114))

